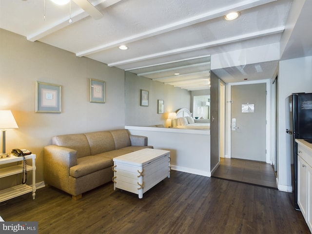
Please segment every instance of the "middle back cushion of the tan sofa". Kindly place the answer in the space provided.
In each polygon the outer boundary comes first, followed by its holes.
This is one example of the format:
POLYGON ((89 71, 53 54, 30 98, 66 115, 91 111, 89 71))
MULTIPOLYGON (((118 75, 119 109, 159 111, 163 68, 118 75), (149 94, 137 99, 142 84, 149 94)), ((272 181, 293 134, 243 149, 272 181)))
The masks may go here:
POLYGON ((85 133, 90 145, 91 155, 115 150, 115 142, 109 131, 85 133))

